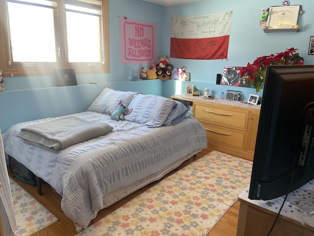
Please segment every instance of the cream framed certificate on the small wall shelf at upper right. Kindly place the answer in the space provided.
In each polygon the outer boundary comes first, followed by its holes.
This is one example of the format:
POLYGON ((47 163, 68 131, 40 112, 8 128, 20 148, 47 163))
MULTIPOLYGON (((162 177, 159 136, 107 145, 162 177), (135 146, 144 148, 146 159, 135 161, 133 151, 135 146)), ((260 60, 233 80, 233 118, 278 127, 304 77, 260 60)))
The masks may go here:
POLYGON ((289 29, 297 25, 300 5, 269 7, 267 28, 289 29))

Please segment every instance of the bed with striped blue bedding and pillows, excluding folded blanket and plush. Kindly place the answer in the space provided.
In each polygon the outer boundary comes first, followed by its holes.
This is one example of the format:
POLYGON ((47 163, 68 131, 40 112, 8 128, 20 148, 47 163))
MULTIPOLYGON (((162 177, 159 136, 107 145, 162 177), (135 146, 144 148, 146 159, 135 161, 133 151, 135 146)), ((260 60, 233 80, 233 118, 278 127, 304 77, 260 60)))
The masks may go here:
POLYGON ((159 179, 207 148, 204 127, 180 102, 155 95, 104 88, 86 112, 13 125, 2 134, 5 153, 49 183, 62 196, 61 208, 87 228, 97 212, 159 179), (132 108, 124 120, 108 113, 117 104, 132 108), (79 118, 112 127, 107 134, 50 150, 18 137, 21 129, 79 118))

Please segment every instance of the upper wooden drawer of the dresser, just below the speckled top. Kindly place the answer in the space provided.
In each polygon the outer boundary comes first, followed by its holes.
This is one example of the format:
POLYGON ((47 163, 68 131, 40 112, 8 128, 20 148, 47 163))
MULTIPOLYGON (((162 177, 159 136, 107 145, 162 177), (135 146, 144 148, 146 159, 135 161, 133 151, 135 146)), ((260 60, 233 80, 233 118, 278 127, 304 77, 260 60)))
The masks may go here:
POLYGON ((195 118, 209 124, 246 131, 248 127, 249 111, 232 109, 230 106, 223 109, 216 106, 203 106, 195 103, 195 118))

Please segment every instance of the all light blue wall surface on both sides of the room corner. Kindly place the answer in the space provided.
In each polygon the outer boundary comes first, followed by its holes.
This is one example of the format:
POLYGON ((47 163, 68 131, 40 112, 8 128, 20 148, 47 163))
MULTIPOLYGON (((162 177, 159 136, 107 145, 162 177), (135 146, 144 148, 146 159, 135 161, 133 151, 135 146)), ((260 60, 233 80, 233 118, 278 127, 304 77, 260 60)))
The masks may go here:
MULTIPOLYGON (((50 88, 56 83, 53 76, 5 77, 5 92, 0 92, 0 129, 3 133, 10 125, 30 119, 67 115, 86 110, 101 88, 110 86, 117 90, 142 91, 170 97, 183 93, 185 84, 196 85, 202 92, 219 96, 228 89, 241 90, 247 100, 255 89, 216 85, 216 74, 224 66, 245 66, 257 57, 298 48, 305 64, 314 64, 314 56, 308 55, 310 36, 314 35, 314 1, 290 0, 290 5, 302 4, 299 15, 300 31, 297 33, 264 33, 259 26, 262 8, 281 5, 282 0, 209 0, 205 2, 163 7, 141 0, 109 0, 110 73, 77 75, 76 87, 50 88), (119 16, 158 23, 157 58, 169 56, 170 19, 173 16, 196 16, 233 11, 228 60, 187 60, 170 58, 174 66, 186 66, 191 73, 190 82, 139 81, 131 82, 130 69, 142 64, 120 65, 119 61, 119 16), (89 83, 98 83, 89 85, 89 83)), ((156 60, 157 60, 156 58, 156 60)), ((262 95, 259 92, 258 95, 262 95)))

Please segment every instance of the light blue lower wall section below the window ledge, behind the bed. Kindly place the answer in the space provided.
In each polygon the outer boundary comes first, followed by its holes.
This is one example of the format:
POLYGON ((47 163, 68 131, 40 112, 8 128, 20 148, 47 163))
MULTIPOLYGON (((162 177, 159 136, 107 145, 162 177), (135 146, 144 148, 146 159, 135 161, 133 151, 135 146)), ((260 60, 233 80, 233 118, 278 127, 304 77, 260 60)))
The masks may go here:
POLYGON ((122 91, 129 91, 133 87, 133 91, 143 94, 162 93, 160 80, 1 92, 1 132, 18 122, 84 112, 105 86, 122 91))

